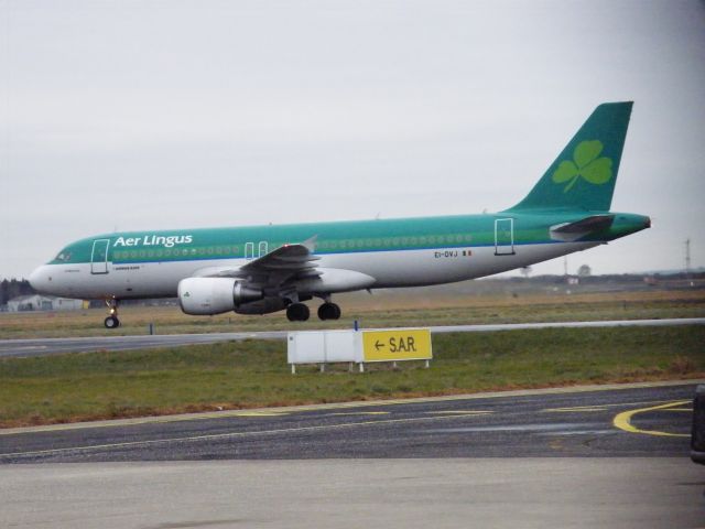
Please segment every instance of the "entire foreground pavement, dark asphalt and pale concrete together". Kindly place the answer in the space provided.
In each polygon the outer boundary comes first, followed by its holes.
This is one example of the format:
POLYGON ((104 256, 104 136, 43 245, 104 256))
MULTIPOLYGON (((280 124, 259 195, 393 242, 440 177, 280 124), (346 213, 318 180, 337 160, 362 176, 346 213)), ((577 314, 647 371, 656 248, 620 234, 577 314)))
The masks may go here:
POLYGON ((6 430, 0 527, 703 527, 695 384, 6 430))

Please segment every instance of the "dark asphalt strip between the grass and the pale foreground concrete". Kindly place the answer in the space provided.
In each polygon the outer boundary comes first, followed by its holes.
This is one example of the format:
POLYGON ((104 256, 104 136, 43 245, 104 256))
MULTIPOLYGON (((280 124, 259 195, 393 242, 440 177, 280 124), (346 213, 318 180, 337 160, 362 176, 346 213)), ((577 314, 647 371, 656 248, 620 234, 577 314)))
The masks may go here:
POLYGON ((0 462, 687 457, 694 389, 568 388, 2 430, 0 462))

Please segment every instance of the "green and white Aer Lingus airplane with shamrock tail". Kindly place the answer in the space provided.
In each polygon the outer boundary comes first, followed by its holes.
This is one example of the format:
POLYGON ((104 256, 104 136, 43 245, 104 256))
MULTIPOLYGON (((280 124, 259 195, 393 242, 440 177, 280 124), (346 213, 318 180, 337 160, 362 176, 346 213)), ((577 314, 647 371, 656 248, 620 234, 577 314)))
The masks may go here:
POLYGON ((39 292, 102 299, 107 328, 122 300, 177 298, 186 314, 286 311, 338 320, 332 295, 490 276, 651 227, 609 210, 632 101, 599 105, 517 205, 494 214, 149 230, 72 242, 35 269, 39 292))

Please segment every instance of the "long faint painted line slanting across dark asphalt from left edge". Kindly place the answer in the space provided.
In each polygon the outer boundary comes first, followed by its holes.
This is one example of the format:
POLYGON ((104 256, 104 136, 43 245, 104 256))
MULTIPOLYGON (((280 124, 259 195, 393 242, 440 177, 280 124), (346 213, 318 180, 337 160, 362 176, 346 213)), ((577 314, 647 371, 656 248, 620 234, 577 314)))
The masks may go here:
POLYGON ((408 419, 387 419, 387 420, 379 420, 379 421, 345 422, 341 424, 322 424, 316 427, 282 428, 282 429, 275 429, 275 430, 261 430, 257 432, 214 433, 214 434, 207 434, 207 435, 194 435, 188 438, 154 439, 154 440, 148 440, 148 441, 129 441, 124 443, 108 443, 108 444, 95 444, 95 445, 84 445, 84 446, 68 446, 65 449, 36 450, 31 452, 11 452, 6 454, 0 453, 0 457, 51 455, 51 454, 61 454, 63 452, 77 452, 77 451, 86 451, 86 450, 126 449, 126 447, 137 447, 137 446, 151 446, 155 444, 165 444, 165 443, 183 443, 183 442, 191 442, 191 441, 212 441, 216 439, 236 439, 236 438, 246 438, 246 436, 254 436, 254 435, 271 435, 271 434, 278 434, 278 433, 301 433, 301 432, 315 432, 321 430, 341 430, 346 428, 372 427, 378 424, 442 421, 445 419, 456 419, 458 417, 462 417, 462 415, 413 417, 408 419))

